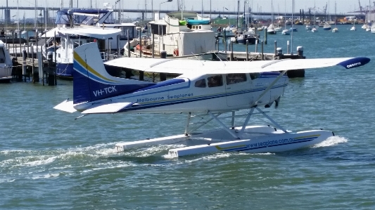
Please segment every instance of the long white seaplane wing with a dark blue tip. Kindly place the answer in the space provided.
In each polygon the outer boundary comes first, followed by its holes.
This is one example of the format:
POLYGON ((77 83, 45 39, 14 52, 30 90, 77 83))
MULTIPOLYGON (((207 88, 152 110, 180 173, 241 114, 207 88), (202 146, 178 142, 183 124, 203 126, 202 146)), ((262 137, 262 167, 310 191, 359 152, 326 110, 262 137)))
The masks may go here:
POLYGON ((314 58, 314 59, 284 59, 260 60, 253 62, 212 61, 212 60, 177 60, 163 58, 118 58, 106 62, 106 65, 129 68, 144 72, 159 72, 170 74, 227 74, 276 72, 283 70, 315 69, 341 65, 345 68, 359 67, 369 63, 369 58, 314 58))

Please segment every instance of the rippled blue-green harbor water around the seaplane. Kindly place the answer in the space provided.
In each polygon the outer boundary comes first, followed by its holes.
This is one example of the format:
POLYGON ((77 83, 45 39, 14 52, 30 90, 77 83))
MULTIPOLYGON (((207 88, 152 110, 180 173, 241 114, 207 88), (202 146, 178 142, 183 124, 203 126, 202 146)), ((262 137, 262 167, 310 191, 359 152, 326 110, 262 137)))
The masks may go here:
MULTIPOLYGON (((0 209, 375 209, 375 34, 297 27, 293 51, 303 46, 307 58, 371 58, 351 70, 306 70, 290 79, 279 107, 267 109, 289 131, 326 129, 333 138, 280 153, 172 159, 167 145, 117 153, 116 143, 183 133, 186 114, 75 120, 80 113, 53 109, 72 98, 71 81, 13 81, 0 84, 0 209)), ((286 53, 291 36, 281 34, 268 35, 265 52, 275 40, 286 53)))

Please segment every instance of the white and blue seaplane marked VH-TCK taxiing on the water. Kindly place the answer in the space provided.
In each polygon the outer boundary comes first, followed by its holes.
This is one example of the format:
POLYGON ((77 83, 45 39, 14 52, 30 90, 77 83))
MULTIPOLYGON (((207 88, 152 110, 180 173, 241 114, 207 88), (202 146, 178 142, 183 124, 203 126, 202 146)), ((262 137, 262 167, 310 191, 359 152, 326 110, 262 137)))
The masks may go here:
POLYGON ((115 150, 118 152, 155 145, 173 145, 167 153, 172 158, 208 152, 283 152, 321 143, 334 136, 333 132, 322 129, 291 132, 267 114, 265 109, 272 104, 279 105, 288 84, 285 73, 334 65, 351 69, 369 60, 360 57, 227 62, 117 58, 106 62, 106 65, 126 70, 175 76, 155 82, 110 76, 97 44, 89 43, 74 49, 73 99, 54 108, 81 112, 80 117, 120 113, 186 114, 184 133, 117 143, 115 150), (250 125, 255 114, 264 116, 272 126, 250 125), (204 120, 192 124, 193 117, 204 120), (244 120, 237 125, 239 117, 244 120), (217 122, 215 129, 200 131, 211 121, 217 122))

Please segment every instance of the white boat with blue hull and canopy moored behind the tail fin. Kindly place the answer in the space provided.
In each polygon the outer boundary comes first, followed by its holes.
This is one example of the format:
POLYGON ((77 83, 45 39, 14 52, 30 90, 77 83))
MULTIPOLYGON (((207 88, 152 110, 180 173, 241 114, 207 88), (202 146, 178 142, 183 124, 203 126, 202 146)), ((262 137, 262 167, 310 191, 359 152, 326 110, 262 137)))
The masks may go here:
MULTIPOLYGON (((42 46, 44 58, 47 58, 48 53, 52 53, 53 60, 55 60, 54 56, 56 55, 56 75, 63 79, 72 79, 73 48, 77 46, 97 41, 103 53, 103 59, 106 59, 108 56, 104 56, 104 54, 119 53, 120 48, 125 46, 128 40, 136 37, 136 25, 134 23, 115 24, 112 22, 112 10, 71 8, 57 11, 57 27, 50 29, 41 36, 41 39, 46 39, 42 42, 45 43, 42 46), (74 22, 68 21, 70 15, 75 15, 76 18, 72 19, 74 22), (102 34, 100 29, 106 30, 103 30, 102 34), (77 34, 72 34, 72 31, 77 34), (129 37, 127 37, 128 32, 129 37)), ((113 75, 117 74, 117 71, 111 72, 109 70, 109 72, 113 75)), ((116 76, 119 76, 119 74, 116 76)))

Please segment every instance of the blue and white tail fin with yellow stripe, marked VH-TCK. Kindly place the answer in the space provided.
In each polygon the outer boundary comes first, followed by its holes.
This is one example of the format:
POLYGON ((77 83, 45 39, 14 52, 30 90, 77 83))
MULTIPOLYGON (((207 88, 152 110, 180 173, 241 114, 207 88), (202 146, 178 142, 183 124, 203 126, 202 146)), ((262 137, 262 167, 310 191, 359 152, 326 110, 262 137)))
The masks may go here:
POLYGON ((73 67, 74 104, 120 96, 154 84, 110 76, 95 42, 75 48, 73 67))

